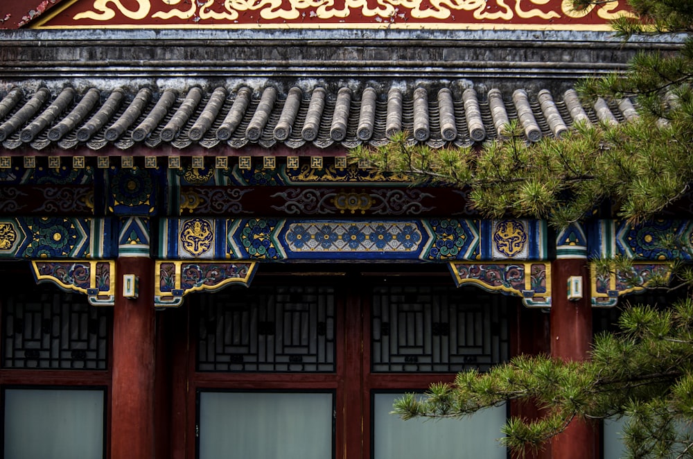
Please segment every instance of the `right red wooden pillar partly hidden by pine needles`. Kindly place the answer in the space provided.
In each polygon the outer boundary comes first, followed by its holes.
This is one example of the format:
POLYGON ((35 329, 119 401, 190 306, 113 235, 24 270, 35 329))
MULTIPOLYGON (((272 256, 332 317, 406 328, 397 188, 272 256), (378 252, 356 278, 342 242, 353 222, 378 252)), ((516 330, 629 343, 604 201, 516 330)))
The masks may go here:
MULTIPOLYGON (((565 361, 588 358, 592 343, 590 275, 584 231, 577 225, 559 234, 556 260, 552 263, 551 355, 565 361), (568 300, 568 278, 582 277, 581 300, 568 300)), ((599 456, 596 427, 574 420, 551 441, 554 459, 596 459, 599 456)))

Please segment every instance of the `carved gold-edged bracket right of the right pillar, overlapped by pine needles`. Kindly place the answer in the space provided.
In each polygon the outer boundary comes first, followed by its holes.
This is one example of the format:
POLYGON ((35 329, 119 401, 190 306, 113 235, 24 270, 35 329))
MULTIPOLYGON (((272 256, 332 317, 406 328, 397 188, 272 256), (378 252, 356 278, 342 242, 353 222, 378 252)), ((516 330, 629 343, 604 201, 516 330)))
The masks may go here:
POLYGON ((592 306, 613 307, 618 298, 630 293, 647 291, 652 277, 669 279, 669 263, 665 261, 651 263, 633 263, 629 272, 609 272, 600 274, 594 265, 590 266, 592 282, 592 306))

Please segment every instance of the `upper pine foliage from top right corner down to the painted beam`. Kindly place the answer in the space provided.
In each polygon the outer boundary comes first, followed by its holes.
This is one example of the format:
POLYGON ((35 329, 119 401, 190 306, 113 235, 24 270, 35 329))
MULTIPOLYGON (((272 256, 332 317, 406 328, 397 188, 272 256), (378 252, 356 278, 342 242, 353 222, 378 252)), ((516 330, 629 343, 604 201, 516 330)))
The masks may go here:
MULTIPOLYGON (((593 0, 577 0, 584 8, 593 0)), ((630 0, 633 17, 617 35, 693 31, 693 0, 630 0)), ((514 121, 481 148, 431 150, 401 133, 381 148, 352 156, 419 182, 470 188, 484 216, 547 218, 556 227, 589 218, 606 205, 633 223, 656 216, 693 181, 693 40, 678 51, 640 53, 629 70, 577 85, 585 101, 634 97, 640 117, 619 125, 574 125, 561 139, 530 144, 514 121)))

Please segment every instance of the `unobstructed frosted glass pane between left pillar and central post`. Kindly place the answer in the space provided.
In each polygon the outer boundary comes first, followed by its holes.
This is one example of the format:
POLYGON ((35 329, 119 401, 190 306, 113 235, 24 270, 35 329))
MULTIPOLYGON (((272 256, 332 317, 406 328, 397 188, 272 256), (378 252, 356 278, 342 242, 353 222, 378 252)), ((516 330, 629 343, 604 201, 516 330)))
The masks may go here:
POLYGON ((333 457, 329 393, 201 392, 200 459, 333 457))

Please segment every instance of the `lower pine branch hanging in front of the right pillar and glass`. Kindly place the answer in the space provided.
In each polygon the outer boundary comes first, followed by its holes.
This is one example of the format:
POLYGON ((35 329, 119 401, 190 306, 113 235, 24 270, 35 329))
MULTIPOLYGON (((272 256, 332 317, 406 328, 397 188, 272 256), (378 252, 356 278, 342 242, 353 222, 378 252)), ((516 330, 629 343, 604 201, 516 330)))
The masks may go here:
POLYGON ((620 331, 595 338, 591 359, 565 362, 518 356, 485 374, 457 374, 426 397, 405 395, 394 413, 463 417, 505 401, 532 401, 541 419, 511 418, 502 442, 517 453, 541 449, 575 418, 626 415, 624 443, 632 458, 693 458, 693 300, 671 309, 626 309, 620 331))

